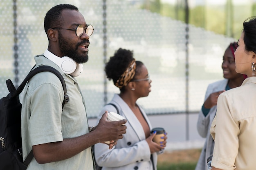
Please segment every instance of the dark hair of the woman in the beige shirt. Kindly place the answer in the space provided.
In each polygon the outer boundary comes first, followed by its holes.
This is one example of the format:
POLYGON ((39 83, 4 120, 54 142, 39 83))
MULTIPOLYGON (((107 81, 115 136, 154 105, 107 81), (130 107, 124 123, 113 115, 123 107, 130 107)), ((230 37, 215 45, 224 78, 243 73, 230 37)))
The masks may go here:
POLYGON ((245 50, 256 53, 256 16, 249 17, 243 22, 245 50))

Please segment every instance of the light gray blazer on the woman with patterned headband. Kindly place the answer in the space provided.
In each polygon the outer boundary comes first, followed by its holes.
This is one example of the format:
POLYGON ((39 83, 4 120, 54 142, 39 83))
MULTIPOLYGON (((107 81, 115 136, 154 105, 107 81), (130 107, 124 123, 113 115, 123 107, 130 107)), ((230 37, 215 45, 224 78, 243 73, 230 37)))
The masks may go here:
MULTIPOLYGON (((153 154, 153 163, 150 161, 150 148, 146 142, 144 130, 129 106, 117 94, 114 95, 112 101, 119 109, 119 114, 127 119, 126 134, 123 139, 117 141, 117 145, 111 150, 106 144, 95 145, 95 160, 102 170, 157 170, 157 153, 153 154)), ((144 110, 139 106, 141 113, 144 115, 150 130, 152 129, 148 117, 144 110)), ((112 111, 117 113, 112 105, 106 105, 98 116, 99 119, 105 112, 112 111)))

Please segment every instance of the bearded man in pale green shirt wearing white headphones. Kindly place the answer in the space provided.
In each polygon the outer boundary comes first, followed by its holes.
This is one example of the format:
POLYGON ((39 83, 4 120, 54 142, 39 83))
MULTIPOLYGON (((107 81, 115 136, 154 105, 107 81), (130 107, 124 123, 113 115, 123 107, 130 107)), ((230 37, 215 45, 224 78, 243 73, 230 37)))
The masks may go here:
POLYGON ((91 146, 110 140, 112 149, 126 133, 126 126, 121 126, 126 120, 107 121, 106 112, 96 127, 88 127, 83 95, 74 73, 88 61, 93 27, 78 9, 69 4, 57 5, 45 15, 44 26, 49 45, 44 55, 34 57, 36 67, 52 66, 63 75, 69 102, 62 109, 63 88, 53 73, 41 72, 30 79, 22 103, 23 159, 33 149, 34 158, 27 170, 93 170, 91 146))

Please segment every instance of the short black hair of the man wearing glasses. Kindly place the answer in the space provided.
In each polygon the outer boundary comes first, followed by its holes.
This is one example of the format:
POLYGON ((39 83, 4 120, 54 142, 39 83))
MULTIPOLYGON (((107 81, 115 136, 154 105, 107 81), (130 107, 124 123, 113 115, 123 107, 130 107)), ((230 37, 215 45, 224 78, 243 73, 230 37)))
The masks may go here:
POLYGON ((45 14, 44 27, 46 34, 48 29, 62 26, 63 19, 61 18, 61 12, 65 9, 78 11, 78 8, 71 4, 58 4, 55 7, 52 7, 45 14))

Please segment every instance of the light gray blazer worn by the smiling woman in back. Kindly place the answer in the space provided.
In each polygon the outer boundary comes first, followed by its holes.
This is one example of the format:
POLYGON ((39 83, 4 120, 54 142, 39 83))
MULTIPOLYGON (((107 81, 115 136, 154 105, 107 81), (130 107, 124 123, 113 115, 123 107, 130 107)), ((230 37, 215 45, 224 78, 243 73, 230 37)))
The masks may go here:
MULTIPOLYGON (((214 82, 212 84, 209 84, 207 87, 207 91, 205 93, 204 101, 211 95, 211 93, 217 92, 217 91, 223 91, 226 89, 228 83, 228 79, 222 79, 218 82, 214 82)), ((213 118, 216 115, 217 106, 213 106, 208 115, 205 117, 202 109, 199 112, 198 115, 198 122, 197 122, 197 130, 201 137, 206 137, 204 147, 202 148, 201 155, 198 159, 198 163, 195 167, 195 170, 205 170, 207 158, 213 154, 213 147, 214 142, 210 134, 210 128, 211 128, 211 122, 213 121, 213 118)))

